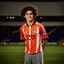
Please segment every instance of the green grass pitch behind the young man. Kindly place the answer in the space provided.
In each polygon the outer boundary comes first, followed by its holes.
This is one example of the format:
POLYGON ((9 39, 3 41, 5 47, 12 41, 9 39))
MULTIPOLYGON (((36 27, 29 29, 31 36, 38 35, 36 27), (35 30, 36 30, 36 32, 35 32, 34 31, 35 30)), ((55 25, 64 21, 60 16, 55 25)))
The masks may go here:
MULTIPOLYGON (((24 64, 24 45, 0 46, 0 64, 24 64)), ((64 46, 45 46, 44 64, 64 64, 64 46)))

